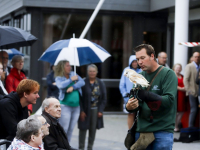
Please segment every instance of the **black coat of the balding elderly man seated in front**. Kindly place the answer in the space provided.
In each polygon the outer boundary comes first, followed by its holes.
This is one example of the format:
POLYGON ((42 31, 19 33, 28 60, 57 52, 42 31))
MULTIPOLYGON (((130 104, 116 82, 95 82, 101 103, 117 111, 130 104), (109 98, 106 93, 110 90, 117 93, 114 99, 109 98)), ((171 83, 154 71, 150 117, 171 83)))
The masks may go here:
POLYGON ((67 135, 57 119, 51 117, 48 113, 43 112, 42 116, 46 119, 49 127, 49 135, 45 136, 44 149, 46 150, 71 150, 67 135))

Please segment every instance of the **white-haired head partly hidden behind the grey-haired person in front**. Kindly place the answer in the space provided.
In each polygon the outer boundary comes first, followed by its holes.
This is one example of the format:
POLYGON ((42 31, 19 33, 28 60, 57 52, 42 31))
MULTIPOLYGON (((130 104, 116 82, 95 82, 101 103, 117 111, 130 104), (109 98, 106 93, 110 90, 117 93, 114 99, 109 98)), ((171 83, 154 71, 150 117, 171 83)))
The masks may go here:
POLYGON ((28 119, 36 119, 36 120, 41 122, 41 124, 42 124, 41 130, 42 130, 42 133, 43 133, 43 138, 45 136, 49 135, 50 125, 47 123, 46 119, 43 116, 41 116, 41 115, 31 115, 30 117, 28 117, 28 119))

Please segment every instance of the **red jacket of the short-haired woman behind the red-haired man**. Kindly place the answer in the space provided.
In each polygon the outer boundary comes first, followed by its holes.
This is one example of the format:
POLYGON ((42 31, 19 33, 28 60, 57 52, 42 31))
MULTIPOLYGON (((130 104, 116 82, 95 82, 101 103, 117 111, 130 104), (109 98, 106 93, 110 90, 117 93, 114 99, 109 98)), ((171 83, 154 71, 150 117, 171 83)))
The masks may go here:
MULTIPOLYGON (((6 90, 8 93, 14 91, 16 92, 19 82, 23 79, 26 79, 26 76, 23 72, 18 73, 16 68, 10 70, 9 75, 6 78, 6 90)), ((32 105, 28 105, 28 109, 32 112, 32 105)))

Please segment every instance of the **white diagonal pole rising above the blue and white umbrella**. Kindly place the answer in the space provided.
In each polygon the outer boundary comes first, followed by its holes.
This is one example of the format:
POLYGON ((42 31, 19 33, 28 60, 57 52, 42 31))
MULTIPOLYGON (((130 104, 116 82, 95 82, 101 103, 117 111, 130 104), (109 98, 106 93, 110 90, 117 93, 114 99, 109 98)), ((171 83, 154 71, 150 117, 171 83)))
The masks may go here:
POLYGON ((90 17, 90 20, 88 21, 87 25, 85 26, 81 36, 79 37, 79 39, 83 39, 86 35, 86 33, 88 32, 88 29, 90 28, 90 26, 92 25, 92 22, 94 21, 97 13, 99 12, 99 9, 101 8, 102 4, 104 3, 104 0, 100 0, 99 3, 97 4, 97 7, 95 8, 92 16, 90 17))

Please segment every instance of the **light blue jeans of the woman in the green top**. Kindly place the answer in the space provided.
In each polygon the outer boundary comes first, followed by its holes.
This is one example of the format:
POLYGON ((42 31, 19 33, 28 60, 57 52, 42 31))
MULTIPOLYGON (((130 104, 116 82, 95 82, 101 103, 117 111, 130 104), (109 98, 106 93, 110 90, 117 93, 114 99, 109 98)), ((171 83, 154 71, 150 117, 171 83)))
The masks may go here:
POLYGON ((61 104, 61 118, 59 119, 59 123, 64 128, 69 142, 71 140, 72 132, 78 121, 79 115, 80 115, 80 106, 70 107, 61 104))

